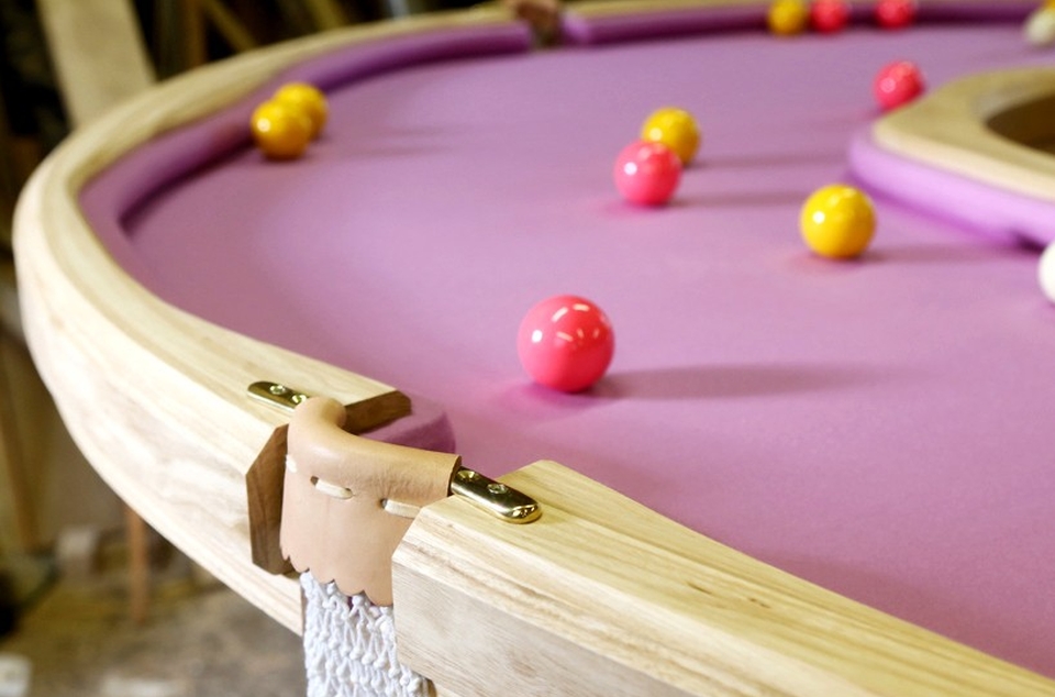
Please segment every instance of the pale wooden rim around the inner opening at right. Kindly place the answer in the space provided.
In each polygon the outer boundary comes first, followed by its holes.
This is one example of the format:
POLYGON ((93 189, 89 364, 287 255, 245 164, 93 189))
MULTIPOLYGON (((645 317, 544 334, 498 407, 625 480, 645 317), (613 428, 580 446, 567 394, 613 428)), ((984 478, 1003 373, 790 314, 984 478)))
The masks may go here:
MULTIPOLYGON (((879 119, 873 126, 873 140, 899 157, 1055 201, 1055 158, 989 126, 1000 114, 1053 95, 1055 68, 975 75, 879 119)), ((1055 125, 1047 128, 1046 135, 1055 135, 1055 125)))

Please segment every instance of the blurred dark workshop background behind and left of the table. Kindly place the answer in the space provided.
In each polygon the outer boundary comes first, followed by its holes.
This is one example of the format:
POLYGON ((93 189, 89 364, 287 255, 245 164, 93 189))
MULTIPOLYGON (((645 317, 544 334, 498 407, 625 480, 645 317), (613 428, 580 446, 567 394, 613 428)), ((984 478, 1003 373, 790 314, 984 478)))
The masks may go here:
POLYGON ((155 80, 468 4, 0 0, 0 697, 304 694, 300 639, 125 510, 66 434, 19 321, 11 220, 26 178, 79 123, 155 80), (96 53, 118 68, 78 77, 96 53))

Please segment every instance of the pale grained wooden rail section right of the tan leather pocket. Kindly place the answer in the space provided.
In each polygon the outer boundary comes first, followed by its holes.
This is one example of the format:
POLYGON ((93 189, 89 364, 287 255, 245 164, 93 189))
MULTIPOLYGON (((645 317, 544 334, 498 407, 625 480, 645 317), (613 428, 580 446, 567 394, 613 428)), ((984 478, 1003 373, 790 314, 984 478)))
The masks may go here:
POLYGON ((396 553, 400 660, 464 697, 1055 694, 556 463, 502 482, 543 517, 510 525, 449 498, 396 553))

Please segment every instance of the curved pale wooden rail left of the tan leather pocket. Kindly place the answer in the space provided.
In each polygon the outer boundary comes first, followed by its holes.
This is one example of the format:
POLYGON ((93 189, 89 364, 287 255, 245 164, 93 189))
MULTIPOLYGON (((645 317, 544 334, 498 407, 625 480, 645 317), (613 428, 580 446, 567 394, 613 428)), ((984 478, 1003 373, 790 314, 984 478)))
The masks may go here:
POLYGON ((244 480, 288 417, 245 389, 274 380, 345 403, 393 390, 166 305, 114 263, 81 215, 78 193, 122 154, 235 102, 291 64, 356 43, 509 21, 504 11, 471 11, 362 25, 164 82, 67 140, 19 201, 25 333, 78 446, 151 525, 295 631, 296 580, 253 565, 244 480))

